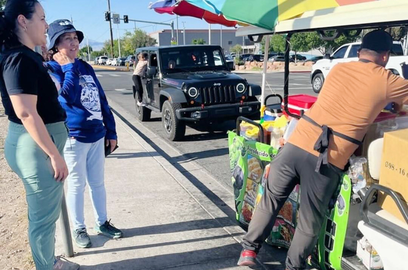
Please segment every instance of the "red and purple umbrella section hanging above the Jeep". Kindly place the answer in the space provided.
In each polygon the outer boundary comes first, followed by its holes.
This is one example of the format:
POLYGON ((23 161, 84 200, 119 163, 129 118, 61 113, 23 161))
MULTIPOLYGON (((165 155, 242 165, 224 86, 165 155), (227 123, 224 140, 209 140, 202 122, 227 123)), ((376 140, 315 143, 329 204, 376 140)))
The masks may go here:
POLYGON ((167 13, 171 15, 195 17, 206 20, 208 23, 222 24, 228 27, 234 27, 237 25, 237 21, 227 20, 221 14, 215 14, 211 11, 193 6, 184 0, 161 0, 151 4, 149 9, 154 9, 156 12, 161 14, 167 13))

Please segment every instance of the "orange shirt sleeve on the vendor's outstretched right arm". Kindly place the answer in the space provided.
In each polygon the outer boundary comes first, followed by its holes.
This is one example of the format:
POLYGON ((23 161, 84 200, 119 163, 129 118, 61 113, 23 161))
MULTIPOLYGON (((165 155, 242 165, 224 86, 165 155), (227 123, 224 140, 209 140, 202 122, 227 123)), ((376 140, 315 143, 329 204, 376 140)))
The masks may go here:
POLYGON ((387 99, 398 103, 408 102, 408 80, 387 71, 387 99))

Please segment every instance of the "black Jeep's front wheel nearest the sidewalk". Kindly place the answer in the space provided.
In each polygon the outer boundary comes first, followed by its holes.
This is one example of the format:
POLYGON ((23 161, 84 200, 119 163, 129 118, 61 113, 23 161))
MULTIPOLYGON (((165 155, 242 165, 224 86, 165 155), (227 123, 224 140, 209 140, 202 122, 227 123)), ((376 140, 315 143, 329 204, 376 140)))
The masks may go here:
POLYGON ((186 123, 177 119, 177 109, 182 109, 182 104, 170 103, 168 100, 163 103, 162 125, 164 134, 170 141, 179 141, 186 133, 186 123))

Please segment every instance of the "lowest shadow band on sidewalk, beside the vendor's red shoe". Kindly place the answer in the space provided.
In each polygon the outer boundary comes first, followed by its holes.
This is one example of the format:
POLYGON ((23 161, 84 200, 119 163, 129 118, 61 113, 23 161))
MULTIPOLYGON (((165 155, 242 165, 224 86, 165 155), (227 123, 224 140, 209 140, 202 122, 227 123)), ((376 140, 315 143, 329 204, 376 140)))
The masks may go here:
MULTIPOLYGON (((145 258, 135 258, 97 265, 82 265, 81 270, 111 270, 111 269, 208 269, 218 270, 237 266, 241 251, 239 244, 223 247, 201 249, 189 252, 163 254, 145 258)), ((264 265, 267 269, 283 270, 282 265, 264 265), (280 267, 282 266, 282 267, 280 267)), ((245 269, 245 268, 243 268, 245 269)), ((256 265, 253 269, 265 269, 256 265)))

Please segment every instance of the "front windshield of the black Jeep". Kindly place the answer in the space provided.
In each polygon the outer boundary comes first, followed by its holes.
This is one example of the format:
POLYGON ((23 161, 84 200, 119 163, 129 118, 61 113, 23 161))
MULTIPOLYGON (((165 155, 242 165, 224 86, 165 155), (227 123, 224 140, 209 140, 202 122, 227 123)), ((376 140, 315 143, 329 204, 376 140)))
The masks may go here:
POLYGON ((162 50, 164 73, 227 70, 221 50, 214 47, 179 47, 162 50))

